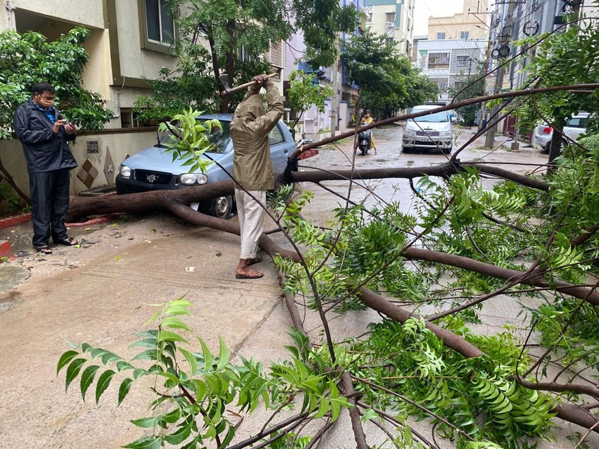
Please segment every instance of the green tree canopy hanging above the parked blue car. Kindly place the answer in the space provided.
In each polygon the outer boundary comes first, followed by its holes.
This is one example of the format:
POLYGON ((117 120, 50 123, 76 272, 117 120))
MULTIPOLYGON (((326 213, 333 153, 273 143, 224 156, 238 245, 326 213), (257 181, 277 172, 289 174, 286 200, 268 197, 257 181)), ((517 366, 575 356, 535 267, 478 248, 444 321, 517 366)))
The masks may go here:
POLYGON ((357 25, 353 6, 336 0, 170 0, 176 17, 179 62, 171 74, 163 71, 153 81, 156 95, 140 98, 137 108, 148 118, 171 117, 189 106, 202 110, 234 110, 243 92, 219 98, 228 75, 229 86, 249 81, 270 71, 264 54, 295 32, 302 32, 307 45, 305 59, 314 67, 331 65, 337 55, 336 34, 357 25))

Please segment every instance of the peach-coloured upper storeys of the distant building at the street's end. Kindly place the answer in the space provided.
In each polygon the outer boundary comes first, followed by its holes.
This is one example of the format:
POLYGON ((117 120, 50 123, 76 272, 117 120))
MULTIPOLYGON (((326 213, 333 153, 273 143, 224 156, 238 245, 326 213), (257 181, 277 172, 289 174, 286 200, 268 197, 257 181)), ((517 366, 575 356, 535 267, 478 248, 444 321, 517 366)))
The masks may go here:
POLYGON ((480 0, 480 4, 478 0, 464 0, 464 10, 461 14, 455 14, 454 16, 449 17, 429 17, 428 18, 428 39, 436 40, 437 33, 445 33, 446 39, 459 39, 461 31, 468 31, 469 39, 473 38, 483 38, 486 35, 484 30, 483 22, 486 20, 487 16, 485 14, 468 14, 468 10, 470 13, 474 13, 479 8, 479 11, 487 10, 487 1, 480 0), (478 17, 480 20, 476 19, 478 17), (482 28, 479 28, 482 27, 482 28))

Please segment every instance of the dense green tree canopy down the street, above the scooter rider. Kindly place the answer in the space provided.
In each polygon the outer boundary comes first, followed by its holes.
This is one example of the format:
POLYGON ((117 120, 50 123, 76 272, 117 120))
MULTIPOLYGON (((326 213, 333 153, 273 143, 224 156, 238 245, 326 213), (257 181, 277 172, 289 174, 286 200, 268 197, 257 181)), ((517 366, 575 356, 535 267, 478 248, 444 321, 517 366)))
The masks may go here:
POLYGON ((398 52, 397 43, 385 43, 385 36, 370 31, 354 36, 343 57, 351 71, 350 80, 361 90, 364 108, 391 116, 437 96, 437 85, 398 52))

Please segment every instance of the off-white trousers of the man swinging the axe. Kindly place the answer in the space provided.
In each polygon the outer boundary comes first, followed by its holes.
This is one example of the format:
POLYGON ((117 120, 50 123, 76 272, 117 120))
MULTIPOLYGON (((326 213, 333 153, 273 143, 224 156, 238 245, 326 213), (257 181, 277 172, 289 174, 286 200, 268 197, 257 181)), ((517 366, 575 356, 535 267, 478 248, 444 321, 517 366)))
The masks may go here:
MULTIPOLYGON (((260 204, 266 204, 265 190, 251 190, 250 193, 260 204)), ((253 259, 258 251, 258 239, 264 229, 264 209, 251 196, 240 189, 235 189, 237 216, 241 233, 240 259, 253 259)))

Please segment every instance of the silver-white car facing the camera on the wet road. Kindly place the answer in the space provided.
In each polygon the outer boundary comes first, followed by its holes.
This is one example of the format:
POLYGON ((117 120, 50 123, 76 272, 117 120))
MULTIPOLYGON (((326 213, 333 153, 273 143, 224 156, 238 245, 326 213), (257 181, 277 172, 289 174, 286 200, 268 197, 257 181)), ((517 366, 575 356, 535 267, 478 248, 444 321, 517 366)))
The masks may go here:
MULTIPOLYGON (((410 114, 438 108, 438 105, 419 105, 412 108, 410 114)), ((404 126, 404 153, 413 150, 437 150, 451 153, 453 147, 453 126, 449 112, 443 111, 409 119, 404 126)))

